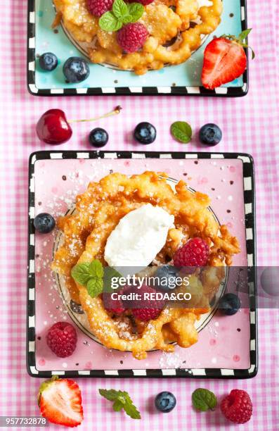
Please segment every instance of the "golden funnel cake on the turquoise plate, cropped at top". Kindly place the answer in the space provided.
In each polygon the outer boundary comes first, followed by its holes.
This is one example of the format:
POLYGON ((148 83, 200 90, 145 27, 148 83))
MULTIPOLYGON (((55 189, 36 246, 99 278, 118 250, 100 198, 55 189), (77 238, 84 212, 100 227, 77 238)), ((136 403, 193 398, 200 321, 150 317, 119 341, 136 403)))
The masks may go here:
POLYGON ((63 20, 67 32, 84 46, 93 63, 134 70, 143 75, 164 65, 177 65, 190 58, 205 35, 214 32, 221 21, 221 0, 155 0, 145 6, 138 23, 145 25, 148 39, 142 49, 126 54, 117 42, 117 32, 107 32, 91 15, 86 0, 53 0, 58 13, 55 25, 63 20))

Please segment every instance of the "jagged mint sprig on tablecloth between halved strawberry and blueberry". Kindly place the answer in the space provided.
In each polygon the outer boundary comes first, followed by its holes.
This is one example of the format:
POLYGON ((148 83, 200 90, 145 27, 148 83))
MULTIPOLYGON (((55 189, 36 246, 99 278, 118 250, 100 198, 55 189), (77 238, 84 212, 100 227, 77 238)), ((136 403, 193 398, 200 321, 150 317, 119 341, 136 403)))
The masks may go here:
POLYGON ((123 408, 130 418, 141 419, 141 413, 133 404, 128 392, 116 391, 115 389, 99 389, 99 394, 109 401, 114 401, 112 404, 114 411, 120 411, 123 408))

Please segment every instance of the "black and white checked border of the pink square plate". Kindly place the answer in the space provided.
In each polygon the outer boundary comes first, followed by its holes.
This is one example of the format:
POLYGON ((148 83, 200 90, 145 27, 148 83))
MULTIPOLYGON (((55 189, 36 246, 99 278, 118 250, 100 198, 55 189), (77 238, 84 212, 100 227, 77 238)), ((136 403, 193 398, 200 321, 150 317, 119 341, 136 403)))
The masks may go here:
POLYGON ((30 156, 29 165, 29 244, 27 263, 27 372, 32 377, 202 377, 202 378, 249 378, 257 374, 257 282, 256 282, 256 235, 254 206, 254 163, 249 154, 236 153, 183 153, 159 151, 37 151, 30 156), (237 370, 228 368, 166 368, 154 370, 48 370, 39 371, 35 362, 35 275, 34 275, 34 164, 38 160, 69 158, 170 158, 170 159, 239 159, 243 166, 243 189, 245 202, 245 228, 249 271, 250 305, 250 367, 237 370))

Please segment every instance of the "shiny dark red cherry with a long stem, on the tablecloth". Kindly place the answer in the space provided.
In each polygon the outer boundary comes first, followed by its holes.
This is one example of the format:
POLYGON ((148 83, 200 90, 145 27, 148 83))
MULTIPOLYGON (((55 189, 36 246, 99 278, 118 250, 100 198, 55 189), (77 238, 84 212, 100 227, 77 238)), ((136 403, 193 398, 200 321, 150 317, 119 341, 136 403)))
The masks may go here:
POLYGON ((72 127, 61 109, 49 109, 41 115, 36 131, 41 141, 51 145, 63 144, 72 137, 72 127))

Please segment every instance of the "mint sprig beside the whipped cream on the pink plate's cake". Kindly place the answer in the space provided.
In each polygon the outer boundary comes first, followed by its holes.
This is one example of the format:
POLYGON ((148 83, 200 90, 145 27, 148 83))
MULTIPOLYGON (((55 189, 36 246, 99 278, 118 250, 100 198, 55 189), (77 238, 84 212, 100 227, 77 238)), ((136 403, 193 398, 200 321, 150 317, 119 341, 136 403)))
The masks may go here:
POLYGON ((75 282, 87 288, 92 298, 103 292, 103 265, 95 259, 92 262, 78 263, 72 268, 71 275, 75 282))

